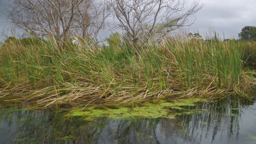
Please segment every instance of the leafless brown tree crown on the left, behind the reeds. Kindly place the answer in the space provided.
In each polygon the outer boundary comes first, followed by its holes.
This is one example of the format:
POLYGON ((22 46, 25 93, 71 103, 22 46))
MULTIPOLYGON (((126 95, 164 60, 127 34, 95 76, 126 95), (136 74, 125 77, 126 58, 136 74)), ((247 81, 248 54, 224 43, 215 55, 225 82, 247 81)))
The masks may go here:
POLYGON ((93 38, 97 37, 108 16, 106 9, 96 11, 101 5, 95 7, 91 0, 16 0, 8 12, 15 26, 31 34, 41 37, 54 34, 57 39, 67 41, 72 31, 81 32, 85 38, 86 34, 92 34, 89 29, 96 29, 93 38))

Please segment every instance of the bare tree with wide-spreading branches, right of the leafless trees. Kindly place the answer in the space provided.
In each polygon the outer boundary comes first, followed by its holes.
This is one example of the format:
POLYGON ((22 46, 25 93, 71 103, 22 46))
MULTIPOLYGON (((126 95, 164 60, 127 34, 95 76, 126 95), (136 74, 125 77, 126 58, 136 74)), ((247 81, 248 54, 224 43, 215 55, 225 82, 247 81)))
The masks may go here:
POLYGON ((139 37, 168 33, 190 26, 189 16, 201 9, 199 2, 186 7, 185 0, 109 0, 115 17, 134 43, 139 37))

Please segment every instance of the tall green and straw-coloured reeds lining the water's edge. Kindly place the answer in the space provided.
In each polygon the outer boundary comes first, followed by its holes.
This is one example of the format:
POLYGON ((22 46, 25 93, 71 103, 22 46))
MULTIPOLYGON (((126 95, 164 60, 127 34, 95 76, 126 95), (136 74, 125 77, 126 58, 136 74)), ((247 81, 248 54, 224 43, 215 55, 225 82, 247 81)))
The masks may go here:
POLYGON ((54 40, 9 41, 0 47, 0 99, 86 106, 146 98, 246 97, 243 91, 253 78, 246 73, 245 55, 255 45, 216 38, 59 49, 54 40))

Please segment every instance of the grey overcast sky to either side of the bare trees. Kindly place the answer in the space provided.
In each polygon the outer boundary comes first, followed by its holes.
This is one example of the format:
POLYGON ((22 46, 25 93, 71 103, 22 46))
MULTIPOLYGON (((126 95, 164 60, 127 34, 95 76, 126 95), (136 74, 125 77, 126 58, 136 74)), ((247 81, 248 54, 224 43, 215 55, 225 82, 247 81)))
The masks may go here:
MULTIPOLYGON (((188 0, 191 1, 193 0, 188 0)), ((3 13, 8 2, 0 0, 0 40, 5 39, 4 35, 10 35, 8 19, 3 13)), ((220 35, 224 33, 225 38, 237 38, 244 26, 256 26, 255 0, 201 0, 200 3, 203 8, 194 15, 194 25, 185 28, 190 32, 199 31, 201 35, 205 35, 211 28, 220 35)))

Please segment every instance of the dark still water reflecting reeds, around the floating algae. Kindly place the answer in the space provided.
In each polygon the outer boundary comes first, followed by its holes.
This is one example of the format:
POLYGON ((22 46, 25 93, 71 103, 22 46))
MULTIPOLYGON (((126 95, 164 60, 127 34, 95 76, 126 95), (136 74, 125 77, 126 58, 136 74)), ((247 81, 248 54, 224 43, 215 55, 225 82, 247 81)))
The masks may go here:
POLYGON ((225 99, 175 119, 64 117, 54 109, 0 104, 0 143, 256 143, 256 103, 225 99))

